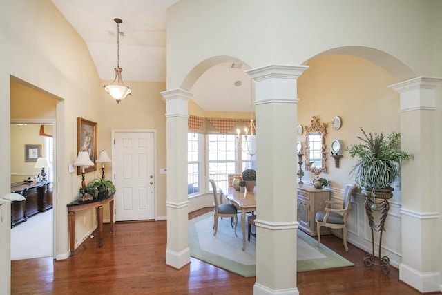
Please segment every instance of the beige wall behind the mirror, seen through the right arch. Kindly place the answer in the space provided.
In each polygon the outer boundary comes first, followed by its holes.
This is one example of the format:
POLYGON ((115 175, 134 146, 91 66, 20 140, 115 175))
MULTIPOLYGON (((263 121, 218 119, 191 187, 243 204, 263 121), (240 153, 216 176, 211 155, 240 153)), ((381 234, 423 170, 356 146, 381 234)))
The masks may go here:
MULTIPOLYGON (((327 123, 327 155, 334 139, 342 142, 343 149, 357 143, 356 136, 362 135, 361 127, 367 132, 385 135, 400 131, 399 96, 387 88, 395 80, 385 70, 347 55, 316 57, 307 64, 310 68, 298 79, 298 122, 311 126, 311 117, 316 116, 321 123, 327 123), (331 127, 334 116, 342 120, 337 131, 331 127)), ((305 133, 298 137, 304 149, 305 137, 305 133)), ((346 184, 354 182, 349 171, 356 160, 349 158, 345 151, 343 155, 339 168, 335 168, 333 159, 327 159, 329 173, 321 174, 331 180, 336 189, 345 189, 346 184)), ((313 173, 305 171, 305 180, 313 178, 313 173)))

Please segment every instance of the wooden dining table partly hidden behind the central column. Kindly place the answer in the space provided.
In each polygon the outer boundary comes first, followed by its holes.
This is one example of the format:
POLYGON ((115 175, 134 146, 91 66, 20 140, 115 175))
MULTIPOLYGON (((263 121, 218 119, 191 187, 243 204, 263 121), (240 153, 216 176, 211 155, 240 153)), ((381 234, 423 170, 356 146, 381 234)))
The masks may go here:
POLYGON ((227 199, 238 210, 241 210, 241 229, 242 229, 242 251, 246 249, 246 213, 256 211, 256 189, 253 191, 236 191, 233 187, 229 188, 227 199))

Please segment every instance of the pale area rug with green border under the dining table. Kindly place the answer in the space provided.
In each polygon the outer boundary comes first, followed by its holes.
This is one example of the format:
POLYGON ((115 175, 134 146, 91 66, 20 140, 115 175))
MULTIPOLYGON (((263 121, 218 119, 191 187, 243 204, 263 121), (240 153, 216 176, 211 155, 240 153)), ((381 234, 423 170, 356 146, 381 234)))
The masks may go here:
MULTIPOLYGON (((242 251, 241 221, 235 236, 230 218, 218 219, 218 231, 213 236, 213 213, 189 220, 189 248, 191 256, 246 278, 256 276, 256 240, 246 241, 242 251)), ((247 227, 246 227, 247 231, 247 227)), ((298 272, 348 267, 354 264, 298 230, 298 272)))

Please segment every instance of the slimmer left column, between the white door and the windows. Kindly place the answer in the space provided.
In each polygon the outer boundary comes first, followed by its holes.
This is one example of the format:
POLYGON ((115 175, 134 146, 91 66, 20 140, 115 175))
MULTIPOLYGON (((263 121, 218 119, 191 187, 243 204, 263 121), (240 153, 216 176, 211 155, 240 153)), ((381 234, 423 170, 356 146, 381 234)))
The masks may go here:
POLYGON ((166 265, 180 269, 190 263, 187 237, 187 118, 192 93, 182 89, 164 91, 166 100, 167 245, 166 265), (177 149, 180 146, 180 149, 177 149))

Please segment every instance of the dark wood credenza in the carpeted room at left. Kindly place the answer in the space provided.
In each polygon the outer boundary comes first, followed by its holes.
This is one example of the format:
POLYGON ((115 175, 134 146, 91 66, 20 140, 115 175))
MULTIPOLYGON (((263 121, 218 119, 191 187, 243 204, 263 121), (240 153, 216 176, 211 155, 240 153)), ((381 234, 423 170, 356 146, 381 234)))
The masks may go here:
POLYGON ((23 201, 11 202, 11 227, 52 208, 52 182, 12 184, 11 192, 25 197, 23 201))

